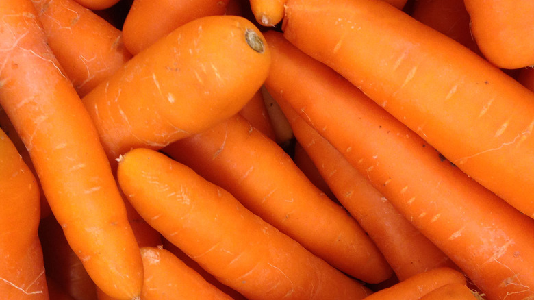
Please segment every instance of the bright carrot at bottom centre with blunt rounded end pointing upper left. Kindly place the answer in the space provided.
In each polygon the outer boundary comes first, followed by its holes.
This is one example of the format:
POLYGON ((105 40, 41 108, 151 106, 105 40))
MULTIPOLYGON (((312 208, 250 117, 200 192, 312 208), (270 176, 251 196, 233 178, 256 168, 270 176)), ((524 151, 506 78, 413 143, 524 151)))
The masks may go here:
POLYGON ((118 182, 149 224, 247 299, 361 299, 370 293, 162 153, 138 148, 122 155, 118 182))

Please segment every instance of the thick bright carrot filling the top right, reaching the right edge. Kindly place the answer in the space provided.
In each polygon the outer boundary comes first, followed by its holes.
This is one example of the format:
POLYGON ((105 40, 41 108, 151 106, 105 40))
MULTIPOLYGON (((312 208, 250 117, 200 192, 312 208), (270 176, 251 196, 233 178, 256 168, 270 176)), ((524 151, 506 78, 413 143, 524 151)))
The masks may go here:
POLYGON ((534 218, 534 93, 383 1, 290 0, 284 36, 534 218))

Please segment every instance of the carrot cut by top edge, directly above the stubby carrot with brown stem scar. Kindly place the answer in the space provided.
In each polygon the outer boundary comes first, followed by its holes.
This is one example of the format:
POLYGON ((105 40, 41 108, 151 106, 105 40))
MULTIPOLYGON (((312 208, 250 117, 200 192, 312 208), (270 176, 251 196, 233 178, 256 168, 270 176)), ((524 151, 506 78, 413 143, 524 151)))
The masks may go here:
POLYGON ((225 14, 228 1, 134 0, 123 25, 126 48, 137 54, 196 18, 225 14))

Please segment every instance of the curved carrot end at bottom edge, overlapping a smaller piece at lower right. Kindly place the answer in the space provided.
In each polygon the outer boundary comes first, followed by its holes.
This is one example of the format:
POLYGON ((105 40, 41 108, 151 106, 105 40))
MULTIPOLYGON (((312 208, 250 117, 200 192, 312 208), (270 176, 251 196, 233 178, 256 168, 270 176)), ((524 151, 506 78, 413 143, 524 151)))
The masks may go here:
POLYGON ((417 300, 429 292, 447 284, 466 284, 463 274, 452 268, 434 268, 419 273, 390 288, 379 290, 365 298, 365 300, 417 300))

